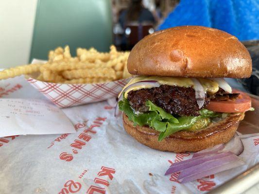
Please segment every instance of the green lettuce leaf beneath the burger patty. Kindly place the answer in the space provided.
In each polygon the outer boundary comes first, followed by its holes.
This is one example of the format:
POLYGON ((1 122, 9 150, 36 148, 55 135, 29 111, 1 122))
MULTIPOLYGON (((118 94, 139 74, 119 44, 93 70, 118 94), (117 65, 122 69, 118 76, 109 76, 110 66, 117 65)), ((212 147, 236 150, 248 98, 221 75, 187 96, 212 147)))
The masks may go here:
POLYGON ((149 100, 146 102, 146 106, 149 107, 148 112, 137 114, 131 108, 126 98, 123 98, 119 102, 119 109, 128 116, 129 120, 134 123, 134 126, 146 125, 159 131, 158 141, 162 141, 179 130, 190 129, 200 119, 221 116, 221 113, 202 109, 200 110, 200 116, 181 116, 175 118, 172 114, 166 113, 162 108, 149 100))

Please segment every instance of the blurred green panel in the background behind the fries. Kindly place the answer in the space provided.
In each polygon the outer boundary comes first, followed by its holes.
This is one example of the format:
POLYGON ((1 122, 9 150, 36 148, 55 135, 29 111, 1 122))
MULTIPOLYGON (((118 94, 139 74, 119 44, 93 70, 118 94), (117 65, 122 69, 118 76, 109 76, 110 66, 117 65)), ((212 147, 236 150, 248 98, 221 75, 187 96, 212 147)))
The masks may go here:
POLYGON ((112 44, 110 0, 38 0, 30 62, 69 45, 108 51, 112 44))

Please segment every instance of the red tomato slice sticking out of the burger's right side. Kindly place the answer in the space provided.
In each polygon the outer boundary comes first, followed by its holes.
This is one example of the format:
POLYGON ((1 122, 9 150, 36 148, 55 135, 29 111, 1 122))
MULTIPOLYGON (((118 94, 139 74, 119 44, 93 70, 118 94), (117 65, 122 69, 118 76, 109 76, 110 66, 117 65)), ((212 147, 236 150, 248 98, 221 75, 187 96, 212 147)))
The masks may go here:
POLYGON ((220 113, 242 113, 249 111, 251 109, 251 98, 239 90, 232 90, 232 92, 240 93, 235 101, 211 100, 206 109, 220 113))

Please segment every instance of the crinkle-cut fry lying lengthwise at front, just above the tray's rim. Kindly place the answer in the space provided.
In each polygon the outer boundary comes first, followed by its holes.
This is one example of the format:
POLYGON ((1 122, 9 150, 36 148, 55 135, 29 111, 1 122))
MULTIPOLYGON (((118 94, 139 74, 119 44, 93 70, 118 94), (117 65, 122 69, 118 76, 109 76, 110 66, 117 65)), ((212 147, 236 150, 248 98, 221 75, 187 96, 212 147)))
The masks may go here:
POLYGON ((108 78, 112 80, 116 79, 115 70, 106 67, 63 71, 62 76, 68 80, 79 78, 108 78))

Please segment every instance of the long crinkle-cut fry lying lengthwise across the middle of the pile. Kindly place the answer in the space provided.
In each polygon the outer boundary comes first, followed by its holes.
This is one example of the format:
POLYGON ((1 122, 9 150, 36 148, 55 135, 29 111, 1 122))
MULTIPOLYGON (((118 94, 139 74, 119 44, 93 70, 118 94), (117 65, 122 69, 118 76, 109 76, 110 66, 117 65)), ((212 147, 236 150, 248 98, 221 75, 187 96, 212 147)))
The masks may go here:
POLYGON ((100 63, 88 63, 88 62, 67 62, 67 61, 61 61, 61 62, 53 62, 53 63, 46 63, 42 65, 40 68, 40 71, 43 72, 45 69, 51 70, 51 71, 66 71, 66 70, 75 70, 75 69, 91 69, 91 68, 98 68, 98 67, 106 67, 106 64, 100 63))

